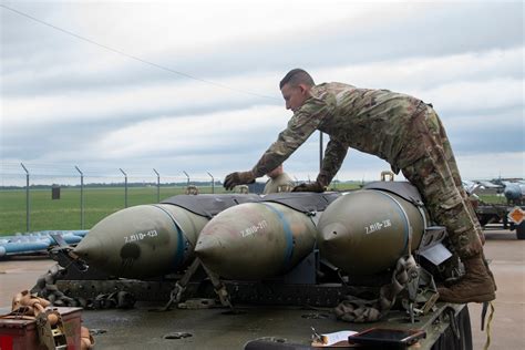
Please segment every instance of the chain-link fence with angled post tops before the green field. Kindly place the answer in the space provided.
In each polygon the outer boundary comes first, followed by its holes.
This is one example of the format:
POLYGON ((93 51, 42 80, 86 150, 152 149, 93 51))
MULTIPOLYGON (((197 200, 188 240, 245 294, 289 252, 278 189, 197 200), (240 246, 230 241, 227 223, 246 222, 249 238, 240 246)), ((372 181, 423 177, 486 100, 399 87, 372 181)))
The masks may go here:
POLYGON ((103 169, 80 166, 2 164, 0 235, 47 229, 89 229, 120 209, 191 193, 223 193, 219 181, 163 174, 152 168, 103 169))

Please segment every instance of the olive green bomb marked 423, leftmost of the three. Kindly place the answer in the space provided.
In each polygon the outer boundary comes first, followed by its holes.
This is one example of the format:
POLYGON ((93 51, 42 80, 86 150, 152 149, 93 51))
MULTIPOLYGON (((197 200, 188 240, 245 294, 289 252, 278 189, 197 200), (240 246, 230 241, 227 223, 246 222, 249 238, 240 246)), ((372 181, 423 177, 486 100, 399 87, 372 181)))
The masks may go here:
POLYGON ((90 266, 126 278, 185 266, 208 218, 169 204, 138 205, 99 222, 73 250, 90 266))

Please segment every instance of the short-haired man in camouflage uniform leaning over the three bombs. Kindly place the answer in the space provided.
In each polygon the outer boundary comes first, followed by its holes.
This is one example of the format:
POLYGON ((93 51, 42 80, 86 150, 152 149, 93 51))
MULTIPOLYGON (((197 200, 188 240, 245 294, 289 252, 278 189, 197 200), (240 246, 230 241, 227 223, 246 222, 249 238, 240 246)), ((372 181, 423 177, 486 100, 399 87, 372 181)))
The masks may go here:
POLYGON ((482 302, 495 299, 495 284, 483 257, 483 235, 466 199, 460 173, 437 114, 415 97, 388 90, 359 89, 342 83, 315 85, 303 70, 280 82, 286 107, 294 116, 277 141, 249 172, 226 176, 225 187, 254 182, 287 159, 320 130, 330 136, 322 168, 312 184, 294 191, 323 192, 352 147, 385 159, 420 191, 432 218, 446 227, 465 265, 463 279, 440 288, 441 299, 482 302))

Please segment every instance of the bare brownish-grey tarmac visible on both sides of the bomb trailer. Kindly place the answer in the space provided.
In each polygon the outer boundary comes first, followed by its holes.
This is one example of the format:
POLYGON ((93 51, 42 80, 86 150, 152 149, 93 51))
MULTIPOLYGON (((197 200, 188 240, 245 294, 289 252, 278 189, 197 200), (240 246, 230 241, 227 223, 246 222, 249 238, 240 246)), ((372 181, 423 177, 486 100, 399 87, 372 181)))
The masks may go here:
MULTIPOLYGON (((491 269, 498 288, 490 325, 491 349, 525 349, 525 240, 517 240, 514 231, 501 229, 487 229, 485 237, 485 256, 492 260, 491 269)), ((43 257, 0 260, 0 307, 3 311, 18 291, 30 289, 54 264, 43 257)), ((482 307, 471 303, 469 308, 474 349, 483 349, 487 332, 481 331, 482 307)))

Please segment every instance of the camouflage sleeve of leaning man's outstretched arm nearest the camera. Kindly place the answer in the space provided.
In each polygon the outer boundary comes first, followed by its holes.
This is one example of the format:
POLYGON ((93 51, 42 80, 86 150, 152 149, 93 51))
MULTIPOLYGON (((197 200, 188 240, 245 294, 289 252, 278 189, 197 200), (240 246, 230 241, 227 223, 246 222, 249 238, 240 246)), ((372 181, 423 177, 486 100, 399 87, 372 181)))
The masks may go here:
POLYGON ((260 177, 282 164, 317 130, 327 111, 322 101, 313 100, 305 103, 290 119, 287 128, 254 166, 251 171, 255 177, 260 177))

